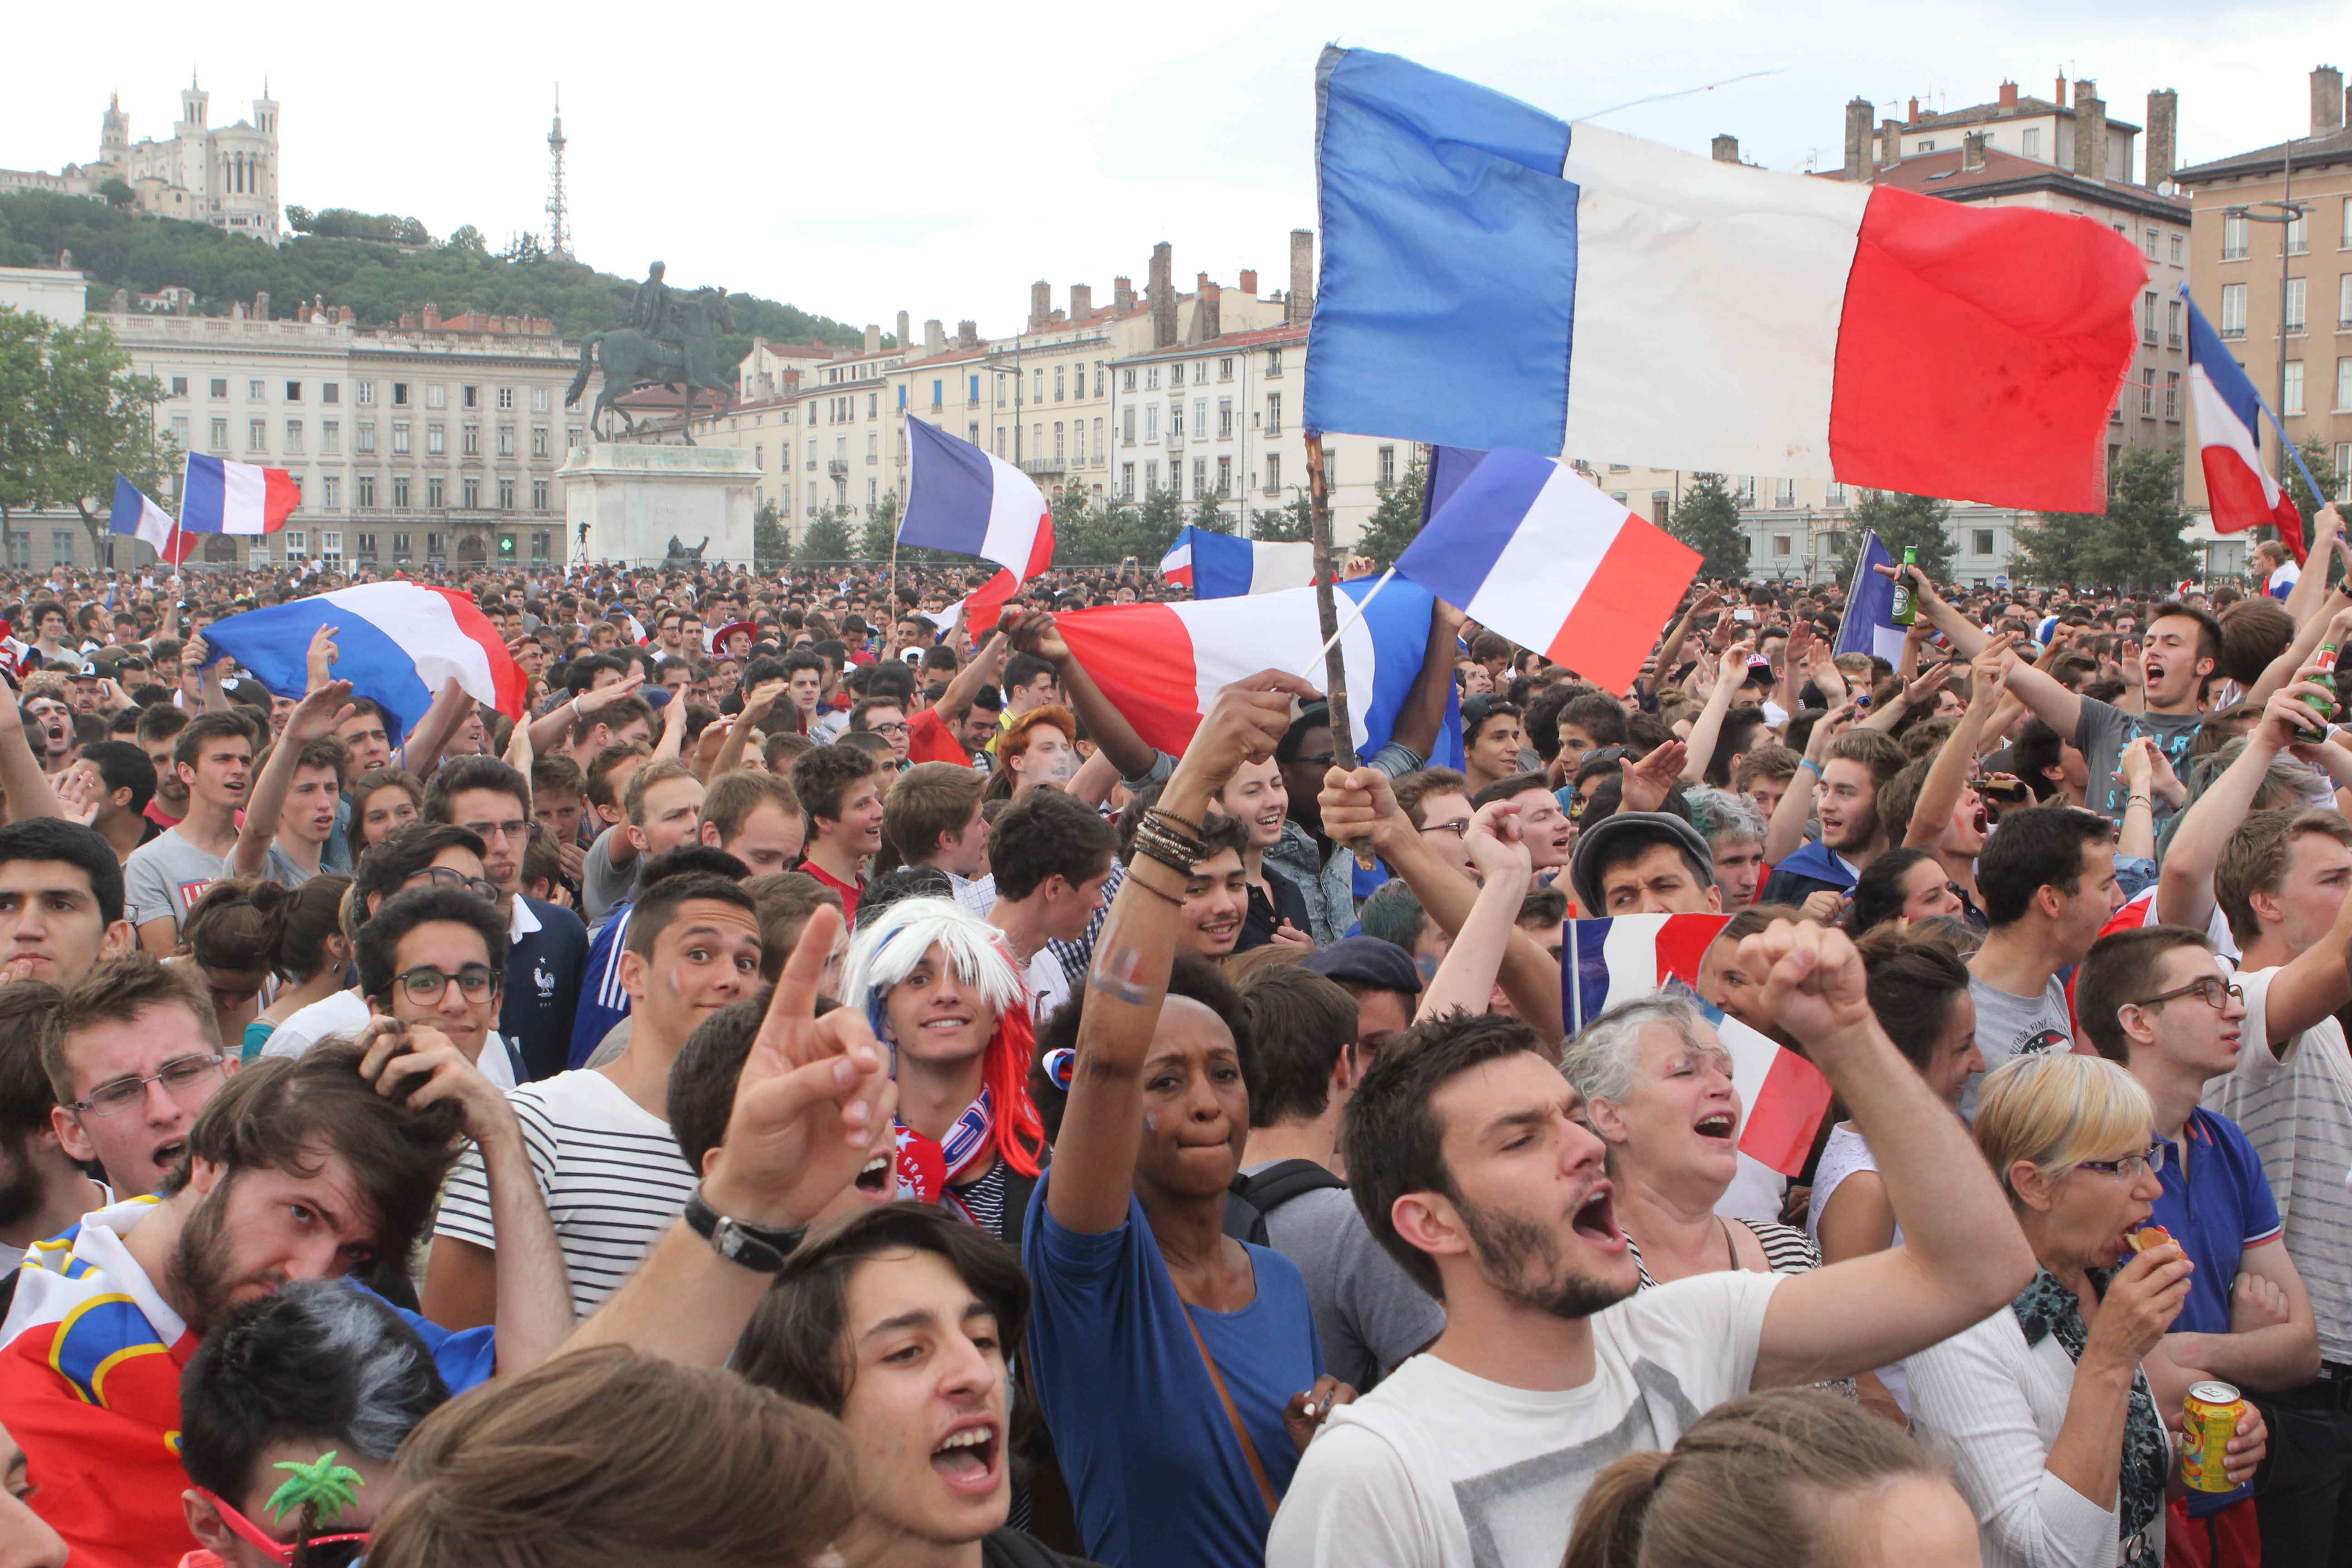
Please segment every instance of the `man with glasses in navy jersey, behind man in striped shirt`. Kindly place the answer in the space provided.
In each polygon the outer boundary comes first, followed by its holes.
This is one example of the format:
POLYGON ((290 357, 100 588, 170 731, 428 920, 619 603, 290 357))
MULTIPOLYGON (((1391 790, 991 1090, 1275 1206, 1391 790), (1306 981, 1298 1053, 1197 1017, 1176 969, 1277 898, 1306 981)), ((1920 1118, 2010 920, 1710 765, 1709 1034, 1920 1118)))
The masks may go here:
MULTIPOLYGON (((699 783, 694 795, 701 804, 699 783)), ((588 926, 572 910, 522 891, 532 783, 496 757, 459 757, 426 785, 426 820, 454 823, 482 839, 482 872, 508 924, 499 1032, 522 1053, 527 1077, 562 1072, 588 971, 588 926)))

